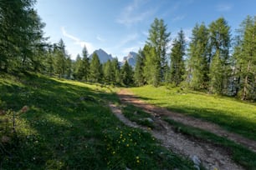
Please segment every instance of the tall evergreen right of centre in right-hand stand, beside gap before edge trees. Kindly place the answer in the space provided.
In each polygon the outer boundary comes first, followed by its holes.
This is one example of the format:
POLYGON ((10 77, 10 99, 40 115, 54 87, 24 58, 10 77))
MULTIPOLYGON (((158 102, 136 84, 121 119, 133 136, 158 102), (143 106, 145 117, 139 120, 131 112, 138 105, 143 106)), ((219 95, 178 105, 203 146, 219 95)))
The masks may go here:
POLYGON ((229 57, 229 47, 230 47, 230 27, 224 18, 218 18, 216 21, 212 22, 209 26, 209 36, 210 36, 210 48, 211 57, 209 57, 208 64, 210 65, 210 90, 212 92, 218 92, 223 94, 228 94, 228 78, 231 74, 231 65, 229 57), (216 58, 215 62, 212 62, 212 58, 216 58), (215 65, 218 64, 218 65, 215 65), (219 64, 221 67, 219 67, 219 64), (214 70, 219 68, 222 72, 219 77, 214 74, 214 70), (221 88, 221 91, 219 91, 221 88))

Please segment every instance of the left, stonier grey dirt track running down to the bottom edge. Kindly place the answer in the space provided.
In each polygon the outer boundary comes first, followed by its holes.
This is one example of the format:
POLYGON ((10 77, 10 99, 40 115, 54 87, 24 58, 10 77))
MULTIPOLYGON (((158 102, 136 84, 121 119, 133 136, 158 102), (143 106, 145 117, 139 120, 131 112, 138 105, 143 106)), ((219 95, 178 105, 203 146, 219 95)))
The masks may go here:
POLYGON ((158 124, 162 125, 161 130, 149 130, 148 128, 136 124, 136 122, 131 122, 129 119, 127 119, 122 114, 120 107, 110 104, 110 108, 112 112, 115 113, 116 117, 118 117, 121 122, 124 122, 125 125, 132 128, 142 128, 160 140, 163 147, 171 149, 174 153, 182 154, 188 158, 191 158, 197 169, 199 169, 198 164, 200 163, 202 163, 204 168, 209 170, 243 169, 233 162, 230 155, 223 150, 223 148, 218 148, 210 143, 196 141, 185 137, 181 133, 176 133, 172 130, 172 127, 170 127, 166 122, 161 121, 161 119, 156 118, 154 120, 158 124))

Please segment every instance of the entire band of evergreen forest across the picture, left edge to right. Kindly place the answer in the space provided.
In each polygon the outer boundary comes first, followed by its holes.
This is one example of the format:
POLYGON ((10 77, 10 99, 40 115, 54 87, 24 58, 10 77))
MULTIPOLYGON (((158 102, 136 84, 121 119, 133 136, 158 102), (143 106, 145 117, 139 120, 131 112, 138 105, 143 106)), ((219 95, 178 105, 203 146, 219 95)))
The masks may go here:
POLYGON ((167 25, 156 18, 136 67, 127 62, 100 63, 86 47, 75 61, 64 41, 44 37, 44 26, 33 0, 0 2, 0 72, 41 72, 49 76, 120 86, 155 87, 172 84, 210 93, 256 100, 256 18, 246 17, 235 35, 225 18, 208 26, 196 23, 190 42, 184 32, 171 38, 167 25), (172 41, 171 41, 172 40, 172 41))

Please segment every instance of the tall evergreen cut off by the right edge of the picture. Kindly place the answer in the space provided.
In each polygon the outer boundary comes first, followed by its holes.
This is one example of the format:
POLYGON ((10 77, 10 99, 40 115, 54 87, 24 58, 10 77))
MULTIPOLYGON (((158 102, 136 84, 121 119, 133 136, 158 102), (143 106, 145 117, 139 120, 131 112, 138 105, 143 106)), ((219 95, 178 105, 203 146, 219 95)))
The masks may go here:
POLYGON ((237 91, 242 100, 256 100, 256 17, 248 16, 238 31, 238 42, 233 53, 237 91))

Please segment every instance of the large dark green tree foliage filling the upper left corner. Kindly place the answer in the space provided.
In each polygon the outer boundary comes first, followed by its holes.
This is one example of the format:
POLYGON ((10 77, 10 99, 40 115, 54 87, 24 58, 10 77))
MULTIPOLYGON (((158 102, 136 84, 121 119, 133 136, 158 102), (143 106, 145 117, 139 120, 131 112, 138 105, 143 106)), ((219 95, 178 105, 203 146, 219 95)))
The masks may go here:
POLYGON ((43 57, 38 54, 45 45, 44 23, 33 4, 33 0, 0 2, 0 69, 38 71, 43 57))

